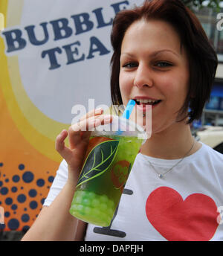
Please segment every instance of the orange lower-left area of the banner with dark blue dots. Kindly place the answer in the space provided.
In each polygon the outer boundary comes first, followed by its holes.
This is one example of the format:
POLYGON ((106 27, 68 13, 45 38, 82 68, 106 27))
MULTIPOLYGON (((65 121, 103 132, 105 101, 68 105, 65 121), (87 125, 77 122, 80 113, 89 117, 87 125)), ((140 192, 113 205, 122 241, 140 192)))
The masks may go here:
POLYGON ((39 214, 42 208, 42 199, 48 194, 52 176, 55 176, 59 163, 43 156, 25 140, 10 118, 10 112, 8 112, 1 89, 0 99, 0 205, 4 208, 4 231, 21 231, 24 227, 30 226, 36 219, 36 215, 39 214), (19 169, 20 164, 24 165, 23 170, 19 169), (33 181, 29 183, 22 179, 27 171, 33 173, 33 181), (15 175, 19 176, 19 182, 13 182, 15 175), (42 187, 36 184, 39 179, 43 179, 45 182, 42 187), (13 187, 17 188, 16 192, 11 191, 13 187), (4 194, 5 188, 8 189, 6 194, 4 194), (36 196, 29 196, 30 189, 36 190, 36 196), (18 201, 20 194, 25 195, 25 202, 18 201), (11 201, 8 198, 13 200, 9 205, 6 203, 11 201), (32 201, 35 201, 33 205, 37 203, 37 207, 34 209, 30 208, 32 201), (24 214, 27 215, 23 216, 24 214))

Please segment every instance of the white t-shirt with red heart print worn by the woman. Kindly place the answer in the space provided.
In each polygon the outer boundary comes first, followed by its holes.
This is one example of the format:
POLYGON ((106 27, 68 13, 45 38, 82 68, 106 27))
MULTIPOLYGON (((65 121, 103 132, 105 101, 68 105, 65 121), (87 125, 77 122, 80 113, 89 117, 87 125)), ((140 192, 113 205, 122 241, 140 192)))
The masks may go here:
MULTIPOLYGON (((223 240, 223 155, 202 144, 162 179, 149 161, 165 173, 179 159, 139 153, 111 225, 88 224, 85 240, 223 240)), ((51 204, 67 176, 63 160, 44 205, 51 204)))

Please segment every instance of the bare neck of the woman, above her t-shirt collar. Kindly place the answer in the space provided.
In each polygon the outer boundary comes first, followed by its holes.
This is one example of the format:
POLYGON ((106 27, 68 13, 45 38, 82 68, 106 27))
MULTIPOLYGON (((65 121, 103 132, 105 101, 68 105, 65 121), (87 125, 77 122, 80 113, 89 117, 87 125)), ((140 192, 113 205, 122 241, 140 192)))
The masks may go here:
MULTIPOLYGON (((140 153, 158 159, 181 159, 193 146, 194 138, 189 124, 175 124, 162 132, 152 134, 141 147, 140 153)), ((189 155, 195 153, 195 145, 189 155)))

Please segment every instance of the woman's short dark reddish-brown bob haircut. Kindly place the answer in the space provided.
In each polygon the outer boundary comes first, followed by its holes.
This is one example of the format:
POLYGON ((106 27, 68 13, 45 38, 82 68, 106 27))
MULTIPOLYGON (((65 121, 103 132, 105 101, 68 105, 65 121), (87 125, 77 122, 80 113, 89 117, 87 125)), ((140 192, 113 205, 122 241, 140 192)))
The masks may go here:
MULTIPOLYGON (((119 88, 120 49, 126 30, 133 22, 144 19, 159 19, 175 28, 187 51, 190 66, 190 82, 187 97, 179 109, 178 116, 185 112, 187 124, 201 118, 204 104, 210 99, 210 92, 216 75, 218 59, 195 14, 181 0, 146 0, 140 7, 122 10, 114 18, 111 31, 111 101, 122 105, 119 88), (188 109, 190 107, 190 112, 188 109)), ((181 119, 184 120, 185 118, 181 119)))

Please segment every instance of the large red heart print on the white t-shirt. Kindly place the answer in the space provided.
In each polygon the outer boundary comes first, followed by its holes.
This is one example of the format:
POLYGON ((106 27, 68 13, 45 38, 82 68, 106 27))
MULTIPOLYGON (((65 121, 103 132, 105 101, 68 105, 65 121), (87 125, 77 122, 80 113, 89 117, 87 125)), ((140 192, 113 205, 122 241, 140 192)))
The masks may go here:
POLYGON ((160 187, 146 200, 146 216, 169 241, 208 241, 218 227, 216 203, 209 196, 193 193, 184 200, 172 188, 160 187))

